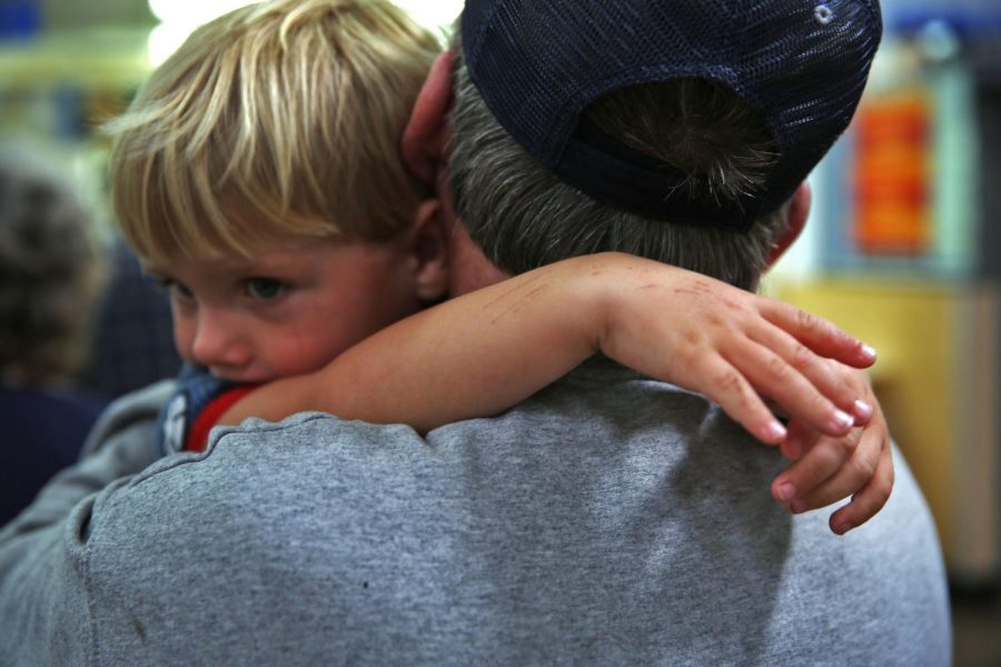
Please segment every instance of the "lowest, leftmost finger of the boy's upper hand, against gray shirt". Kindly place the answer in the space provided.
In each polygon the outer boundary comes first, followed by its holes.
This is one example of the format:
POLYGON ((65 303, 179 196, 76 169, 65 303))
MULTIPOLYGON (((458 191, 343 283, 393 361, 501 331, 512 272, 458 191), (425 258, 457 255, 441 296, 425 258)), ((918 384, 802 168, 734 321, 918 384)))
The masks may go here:
POLYGON ((718 404, 731 419, 752 436, 765 445, 777 445, 785 439, 785 427, 733 365, 722 357, 712 356, 702 359, 693 370, 692 387, 718 404))

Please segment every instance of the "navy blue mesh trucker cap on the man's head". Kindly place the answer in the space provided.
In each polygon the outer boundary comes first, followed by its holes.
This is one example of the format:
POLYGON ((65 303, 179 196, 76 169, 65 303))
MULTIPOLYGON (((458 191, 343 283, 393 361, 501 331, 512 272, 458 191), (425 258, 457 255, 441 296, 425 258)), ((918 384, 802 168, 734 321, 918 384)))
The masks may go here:
POLYGON ((878 0, 466 0, 463 57, 497 121, 591 197, 651 218, 746 230, 779 208, 855 111, 882 33, 878 0), (618 88, 705 79, 760 115, 777 159, 741 200, 579 123, 618 88))

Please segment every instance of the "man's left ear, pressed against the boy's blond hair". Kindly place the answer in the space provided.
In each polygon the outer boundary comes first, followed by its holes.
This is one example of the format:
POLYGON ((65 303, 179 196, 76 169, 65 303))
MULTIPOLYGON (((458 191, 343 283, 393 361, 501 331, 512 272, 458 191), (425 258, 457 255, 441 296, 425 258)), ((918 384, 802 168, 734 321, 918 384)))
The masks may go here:
POLYGON ((446 51, 435 59, 414 103, 400 140, 407 169, 429 187, 435 186, 438 165, 448 146, 448 111, 452 109, 452 70, 455 57, 446 51))

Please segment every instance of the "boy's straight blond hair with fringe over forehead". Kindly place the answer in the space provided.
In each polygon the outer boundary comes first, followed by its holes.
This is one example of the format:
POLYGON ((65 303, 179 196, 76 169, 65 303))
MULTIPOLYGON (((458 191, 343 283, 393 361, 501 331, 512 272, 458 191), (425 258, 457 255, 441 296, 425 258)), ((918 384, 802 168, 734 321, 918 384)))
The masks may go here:
POLYGON ((399 138, 438 50, 385 0, 276 0, 202 26, 107 126, 126 240, 168 261, 399 235, 418 200, 399 138))

